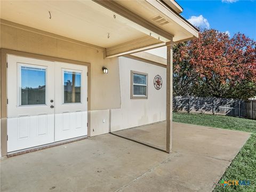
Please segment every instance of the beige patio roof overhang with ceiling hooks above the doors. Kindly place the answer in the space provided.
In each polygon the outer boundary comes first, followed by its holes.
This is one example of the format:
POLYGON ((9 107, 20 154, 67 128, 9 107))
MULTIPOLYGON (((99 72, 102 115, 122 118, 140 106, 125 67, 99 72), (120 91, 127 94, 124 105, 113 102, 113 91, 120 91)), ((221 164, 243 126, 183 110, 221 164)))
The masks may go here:
POLYGON ((11 21, 20 28, 28 26, 86 42, 88 46, 105 50, 110 58, 198 37, 197 29, 167 3, 157 0, 1 1, 1 23, 10 25, 7 21, 11 21))

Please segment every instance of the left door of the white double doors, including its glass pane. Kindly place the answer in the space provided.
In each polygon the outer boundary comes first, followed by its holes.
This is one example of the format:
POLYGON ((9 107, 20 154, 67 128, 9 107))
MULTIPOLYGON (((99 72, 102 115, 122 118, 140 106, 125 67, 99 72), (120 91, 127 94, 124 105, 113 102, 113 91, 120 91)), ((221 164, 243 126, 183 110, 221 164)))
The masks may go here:
POLYGON ((54 142, 54 62, 7 55, 7 152, 54 142))

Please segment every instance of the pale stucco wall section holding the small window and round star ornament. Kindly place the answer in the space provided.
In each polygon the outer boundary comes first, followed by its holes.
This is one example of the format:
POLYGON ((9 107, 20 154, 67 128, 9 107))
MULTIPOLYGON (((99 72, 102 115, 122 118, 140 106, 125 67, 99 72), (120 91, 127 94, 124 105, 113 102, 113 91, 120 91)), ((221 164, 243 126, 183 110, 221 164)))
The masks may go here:
POLYGON ((166 98, 166 68, 125 57, 119 58, 121 108, 111 110, 111 131, 164 121, 166 98), (148 99, 130 99, 131 70, 148 74, 148 99), (162 89, 154 87, 154 77, 160 75, 162 89))

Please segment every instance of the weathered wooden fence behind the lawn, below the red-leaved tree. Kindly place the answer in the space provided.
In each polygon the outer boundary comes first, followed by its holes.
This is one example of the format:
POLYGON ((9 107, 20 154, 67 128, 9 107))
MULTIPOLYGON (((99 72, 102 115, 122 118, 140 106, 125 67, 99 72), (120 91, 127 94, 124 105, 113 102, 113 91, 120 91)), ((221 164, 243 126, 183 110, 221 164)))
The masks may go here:
POLYGON ((173 110, 256 119, 256 100, 174 97, 173 110))

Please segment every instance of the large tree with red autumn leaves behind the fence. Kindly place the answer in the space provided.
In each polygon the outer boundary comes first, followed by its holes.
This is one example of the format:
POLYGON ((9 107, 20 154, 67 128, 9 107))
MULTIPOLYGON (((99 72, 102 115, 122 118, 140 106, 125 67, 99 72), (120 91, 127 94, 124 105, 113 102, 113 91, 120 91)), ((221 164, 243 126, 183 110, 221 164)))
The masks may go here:
POLYGON ((256 96, 256 43, 204 29, 173 47, 174 95, 248 99, 256 96))

